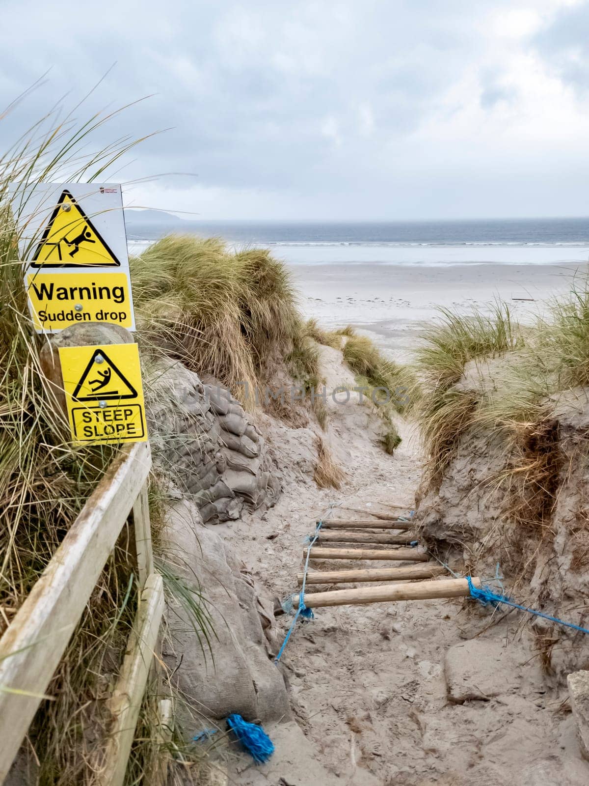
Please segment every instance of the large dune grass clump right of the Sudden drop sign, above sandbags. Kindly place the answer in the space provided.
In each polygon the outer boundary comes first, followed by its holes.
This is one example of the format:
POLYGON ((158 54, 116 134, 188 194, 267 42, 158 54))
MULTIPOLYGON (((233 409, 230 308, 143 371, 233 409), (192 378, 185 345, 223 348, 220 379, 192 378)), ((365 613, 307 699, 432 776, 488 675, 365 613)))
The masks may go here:
POLYGON ((131 259, 131 276, 144 340, 242 401, 300 334, 290 274, 264 248, 169 235, 131 259))

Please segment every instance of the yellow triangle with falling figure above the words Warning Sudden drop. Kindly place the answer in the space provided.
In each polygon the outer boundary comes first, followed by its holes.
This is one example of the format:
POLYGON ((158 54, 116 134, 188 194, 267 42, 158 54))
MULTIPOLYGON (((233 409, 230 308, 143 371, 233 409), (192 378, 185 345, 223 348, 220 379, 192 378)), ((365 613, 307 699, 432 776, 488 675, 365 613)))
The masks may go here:
POLYGON ((121 263, 75 198, 64 190, 31 267, 120 267, 121 263))

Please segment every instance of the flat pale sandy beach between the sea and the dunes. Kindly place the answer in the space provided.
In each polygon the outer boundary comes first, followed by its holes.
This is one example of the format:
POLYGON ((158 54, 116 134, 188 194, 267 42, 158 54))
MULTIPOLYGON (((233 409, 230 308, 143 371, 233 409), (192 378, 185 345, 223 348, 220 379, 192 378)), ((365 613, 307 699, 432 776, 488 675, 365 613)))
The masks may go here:
POLYGON ((502 299, 521 321, 570 291, 579 263, 290 265, 302 309, 327 328, 353 325, 397 359, 408 359, 438 307, 467 313, 502 299))

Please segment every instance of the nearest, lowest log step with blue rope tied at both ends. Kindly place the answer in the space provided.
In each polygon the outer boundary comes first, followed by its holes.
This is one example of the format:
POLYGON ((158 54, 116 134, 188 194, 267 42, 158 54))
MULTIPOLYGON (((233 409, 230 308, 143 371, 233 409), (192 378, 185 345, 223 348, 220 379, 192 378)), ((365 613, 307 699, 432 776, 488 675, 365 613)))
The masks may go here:
MULTIPOLYGON (((481 586, 480 578, 473 578, 475 587, 481 586)), ((443 597, 466 597, 470 589, 466 578, 442 578, 432 582, 412 584, 389 584, 381 587, 354 587, 353 589, 332 589, 331 592, 305 594, 307 608, 325 606, 350 606, 363 603, 383 603, 385 601, 428 601, 443 597)), ((298 595, 294 595, 298 601, 298 595)))

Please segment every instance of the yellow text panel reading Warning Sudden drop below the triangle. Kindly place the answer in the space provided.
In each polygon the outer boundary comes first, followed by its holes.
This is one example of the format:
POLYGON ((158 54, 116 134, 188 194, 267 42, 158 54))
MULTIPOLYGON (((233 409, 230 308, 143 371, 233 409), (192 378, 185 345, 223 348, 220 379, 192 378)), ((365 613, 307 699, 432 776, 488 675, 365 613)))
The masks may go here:
POLYGON ((35 330, 53 333, 76 322, 133 327, 129 277, 125 273, 27 273, 35 330))

